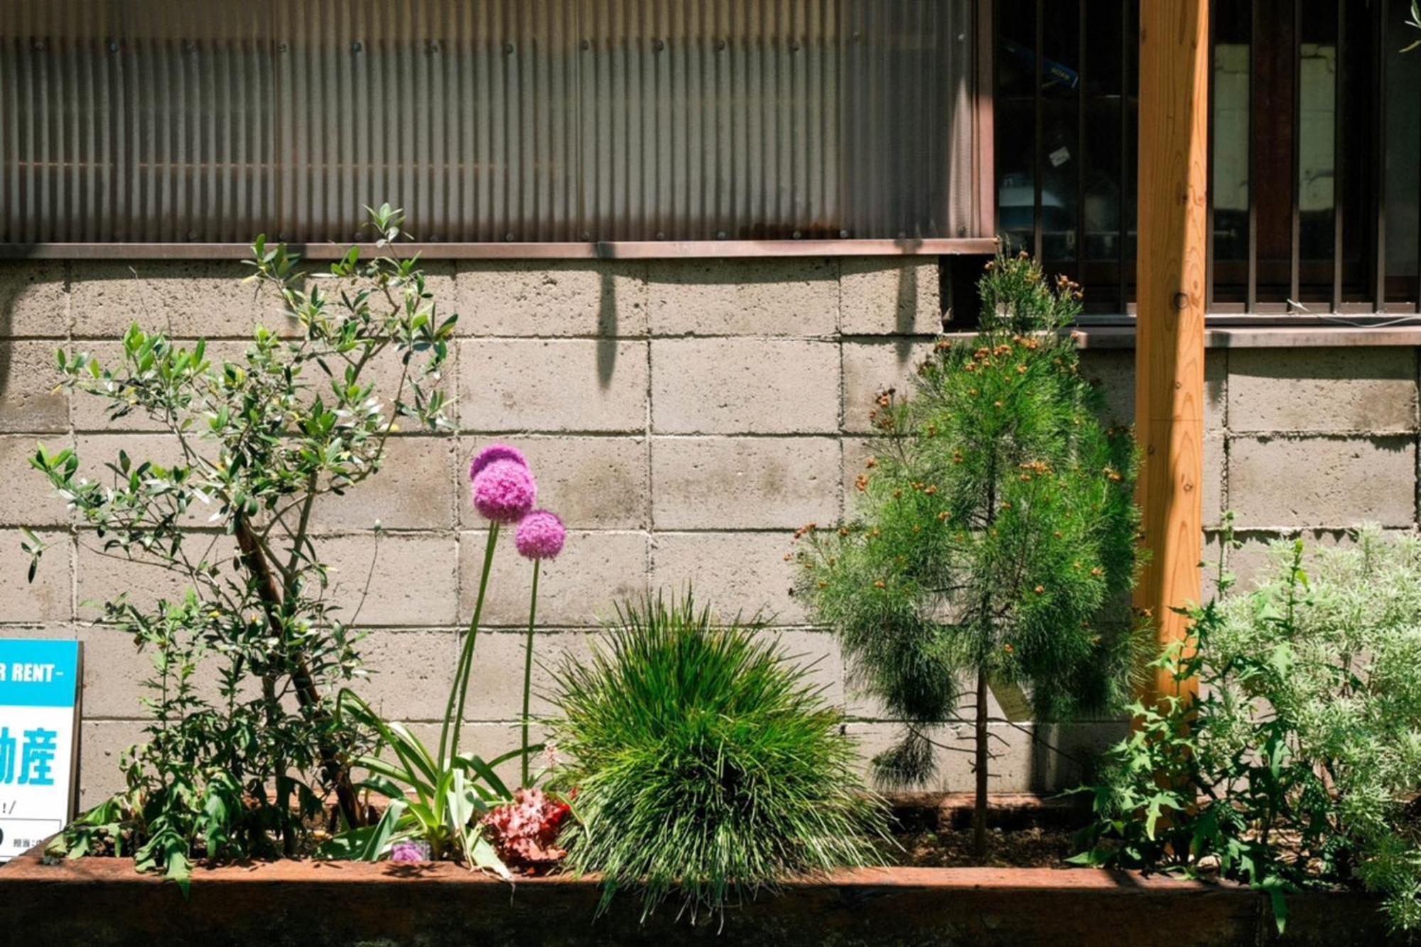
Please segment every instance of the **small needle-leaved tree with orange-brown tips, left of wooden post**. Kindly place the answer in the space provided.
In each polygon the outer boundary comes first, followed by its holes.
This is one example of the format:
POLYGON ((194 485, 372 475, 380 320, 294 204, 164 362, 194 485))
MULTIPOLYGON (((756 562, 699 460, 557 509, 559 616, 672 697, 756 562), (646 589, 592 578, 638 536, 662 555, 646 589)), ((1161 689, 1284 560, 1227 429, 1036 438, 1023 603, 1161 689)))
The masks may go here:
POLYGON ((912 397, 880 395, 853 519, 806 528, 796 553, 850 674, 904 724, 874 761, 884 783, 924 783, 935 731, 973 725, 979 857, 992 725, 1121 705, 1138 641, 1135 449, 1097 421, 1061 331, 1080 290, 1022 255, 988 264, 980 294, 980 333, 939 341, 912 397), (993 718, 989 692, 1019 711, 993 718))

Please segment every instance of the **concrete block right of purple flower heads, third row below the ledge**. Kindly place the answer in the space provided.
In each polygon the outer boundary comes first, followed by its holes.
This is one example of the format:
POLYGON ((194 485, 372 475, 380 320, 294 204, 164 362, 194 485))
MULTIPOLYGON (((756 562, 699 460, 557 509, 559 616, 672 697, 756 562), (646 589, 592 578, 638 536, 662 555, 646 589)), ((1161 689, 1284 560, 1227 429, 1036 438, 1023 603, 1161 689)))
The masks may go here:
POLYGON ((838 516, 834 438, 654 438, 657 529, 784 529, 838 516))

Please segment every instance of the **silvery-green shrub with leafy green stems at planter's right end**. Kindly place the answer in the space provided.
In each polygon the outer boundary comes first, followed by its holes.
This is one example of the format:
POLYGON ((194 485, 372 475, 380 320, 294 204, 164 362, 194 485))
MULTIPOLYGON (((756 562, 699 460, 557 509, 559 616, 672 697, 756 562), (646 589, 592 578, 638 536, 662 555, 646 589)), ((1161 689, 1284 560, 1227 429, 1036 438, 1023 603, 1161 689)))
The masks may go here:
POLYGON ((1269 892, 1279 924, 1286 893, 1354 880, 1421 926, 1421 539, 1277 543, 1258 587, 1195 611, 1161 663, 1201 695, 1135 708, 1079 860, 1216 863, 1269 892))

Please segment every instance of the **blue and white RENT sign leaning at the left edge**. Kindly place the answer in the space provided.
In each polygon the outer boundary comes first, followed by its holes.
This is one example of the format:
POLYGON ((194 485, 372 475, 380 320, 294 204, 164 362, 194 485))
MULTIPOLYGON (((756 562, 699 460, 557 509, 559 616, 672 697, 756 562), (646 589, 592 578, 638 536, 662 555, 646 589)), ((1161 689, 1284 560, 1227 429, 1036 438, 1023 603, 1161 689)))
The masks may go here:
POLYGON ((0 862, 74 816, 78 641, 0 640, 0 862))

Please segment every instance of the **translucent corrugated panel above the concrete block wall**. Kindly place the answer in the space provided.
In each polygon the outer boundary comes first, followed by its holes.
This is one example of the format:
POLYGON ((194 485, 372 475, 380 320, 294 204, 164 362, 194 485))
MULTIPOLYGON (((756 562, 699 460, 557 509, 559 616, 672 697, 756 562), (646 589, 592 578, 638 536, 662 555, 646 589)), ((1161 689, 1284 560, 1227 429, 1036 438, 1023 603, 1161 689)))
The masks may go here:
POLYGON ((971 0, 0 0, 0 242, 975 235, 971 0))

